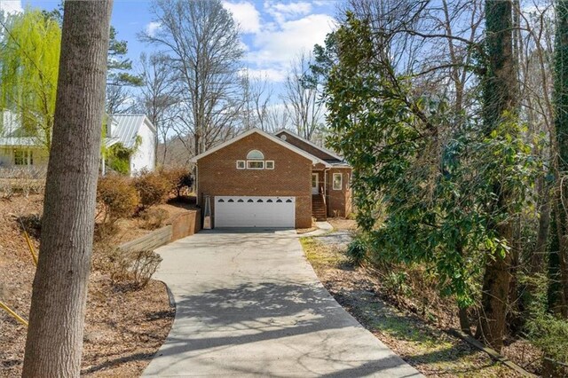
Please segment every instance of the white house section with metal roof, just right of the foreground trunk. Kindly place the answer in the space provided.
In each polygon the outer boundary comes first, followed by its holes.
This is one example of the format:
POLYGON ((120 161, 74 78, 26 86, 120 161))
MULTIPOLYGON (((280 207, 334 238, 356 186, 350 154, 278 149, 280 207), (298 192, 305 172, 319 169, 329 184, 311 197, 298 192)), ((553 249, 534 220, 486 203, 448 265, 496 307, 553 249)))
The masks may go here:
MULTIPOLYGON (((109 116, 106 126, 105 146, 110 147, 122 143, 126 148, 136 146, 137 138, 140 143, 136 152, 130 156, 130 176, 135 176, 140 170, 154 170, 156 161, 156 129, 144 114, 114 114, 109 116)), ((105 160, 102 172, 105 174, 105 160)))

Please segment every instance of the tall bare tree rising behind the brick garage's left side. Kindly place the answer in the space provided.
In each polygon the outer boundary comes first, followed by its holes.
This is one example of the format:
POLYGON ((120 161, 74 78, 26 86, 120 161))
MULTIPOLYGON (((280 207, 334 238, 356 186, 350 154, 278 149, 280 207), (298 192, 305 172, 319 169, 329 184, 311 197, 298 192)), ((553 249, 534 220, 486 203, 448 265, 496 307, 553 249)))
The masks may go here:
POLYGON ((238 72, 243 51, 233 17, 219 0, 156 0, 160 28, 141 40, 164 49, 182 94, 177 131, 193 154, 232 137, 241 108, 238 72))

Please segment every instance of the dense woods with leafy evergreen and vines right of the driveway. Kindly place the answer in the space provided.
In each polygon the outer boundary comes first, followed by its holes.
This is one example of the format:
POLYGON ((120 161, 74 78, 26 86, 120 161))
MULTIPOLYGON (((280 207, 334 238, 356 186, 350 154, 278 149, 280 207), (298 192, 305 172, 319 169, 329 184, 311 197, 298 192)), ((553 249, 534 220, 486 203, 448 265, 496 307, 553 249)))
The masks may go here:
POLYGON ((328 142, 354 167, 351 256, 453 298, 496 350, 566 362, 565 2, 345 6, 315 50, 328 142))

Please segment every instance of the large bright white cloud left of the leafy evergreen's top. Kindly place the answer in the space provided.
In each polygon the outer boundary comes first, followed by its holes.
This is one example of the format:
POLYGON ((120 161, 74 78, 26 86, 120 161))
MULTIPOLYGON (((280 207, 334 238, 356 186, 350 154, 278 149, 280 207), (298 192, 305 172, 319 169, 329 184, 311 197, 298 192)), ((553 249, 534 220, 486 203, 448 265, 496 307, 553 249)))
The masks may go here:
POLYGON ((333 28, 334 19, 327 14, 311 14, 300 20, 286 21, 278 30, 264 31, 255 36, 254 51, 248 52, 249 63, 257 67, 276 65, 288 68, 289 62, 298 53, 312 51, 316 43, 323 44, 333 28))

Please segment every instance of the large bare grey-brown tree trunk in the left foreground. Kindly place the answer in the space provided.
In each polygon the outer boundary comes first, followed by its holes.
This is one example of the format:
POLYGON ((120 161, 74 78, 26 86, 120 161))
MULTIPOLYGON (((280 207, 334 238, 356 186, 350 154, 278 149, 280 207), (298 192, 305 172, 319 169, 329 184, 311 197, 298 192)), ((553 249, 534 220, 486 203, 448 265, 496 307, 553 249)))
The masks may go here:
POLYGON ((112 0, 65 2, 55 124, 24 377, 78 377, 112 0))

